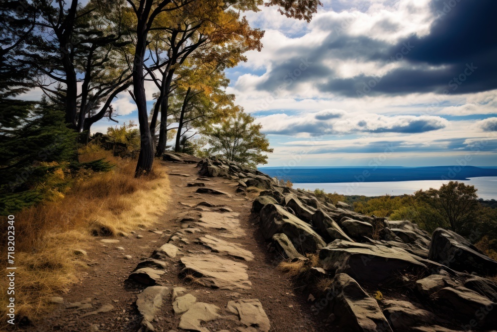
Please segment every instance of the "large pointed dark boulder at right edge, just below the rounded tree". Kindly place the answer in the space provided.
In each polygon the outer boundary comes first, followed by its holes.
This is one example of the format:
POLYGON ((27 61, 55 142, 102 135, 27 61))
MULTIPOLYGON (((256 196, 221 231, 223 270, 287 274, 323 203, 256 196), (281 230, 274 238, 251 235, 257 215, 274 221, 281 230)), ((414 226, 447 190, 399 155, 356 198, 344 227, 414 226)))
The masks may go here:
POLYGON ((497 274, 497 261, 483 254, 461 235, 443 228, 433 232, 428 258, 457 271, 497 274))

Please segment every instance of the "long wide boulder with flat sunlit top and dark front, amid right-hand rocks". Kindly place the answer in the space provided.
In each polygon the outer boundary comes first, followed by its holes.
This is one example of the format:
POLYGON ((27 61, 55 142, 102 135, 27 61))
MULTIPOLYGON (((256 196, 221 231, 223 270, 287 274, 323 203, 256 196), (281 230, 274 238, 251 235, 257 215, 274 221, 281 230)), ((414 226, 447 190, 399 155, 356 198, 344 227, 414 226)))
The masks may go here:
POLYGON ((319 258, 327 271, 371 282, 390 279, 398 271, 428 271, 422 258, 401 248, 379 244, 334 240, 320 250, 319 258))

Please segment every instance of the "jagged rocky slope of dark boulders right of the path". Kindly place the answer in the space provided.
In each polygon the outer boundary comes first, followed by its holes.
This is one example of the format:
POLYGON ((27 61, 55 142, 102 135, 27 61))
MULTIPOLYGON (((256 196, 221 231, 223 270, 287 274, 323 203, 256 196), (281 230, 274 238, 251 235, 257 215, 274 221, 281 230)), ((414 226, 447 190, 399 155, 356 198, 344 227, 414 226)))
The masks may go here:
POLYGON ((442 228, 430 235, 410 221, 360 215, 226 160, 205 159, 198 167, 201 176, 238 181, 237 192, 262 190, 252 213, 284 258, 298 263, 319 255, 301 289, 313 310, 327 317, 330 331, 497 328, 497 285, 491 280, 497 262, 462 236, 442 228), (324 279, 329 287, 315 297, 313 283, 324 279))

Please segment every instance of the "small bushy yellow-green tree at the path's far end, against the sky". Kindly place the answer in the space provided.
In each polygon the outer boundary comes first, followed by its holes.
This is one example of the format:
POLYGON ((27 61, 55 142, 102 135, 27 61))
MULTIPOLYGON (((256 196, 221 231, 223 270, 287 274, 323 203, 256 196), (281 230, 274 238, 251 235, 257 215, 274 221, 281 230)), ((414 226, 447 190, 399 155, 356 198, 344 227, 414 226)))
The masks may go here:
POLYGON ((273 149, 269 148, 266 135, 260 132, 262 125, 253 123, 254 120, 240 108, 236 115, 211 128, 206 132, 212 146, 210 151, 221 152, 225 158, 251 168, 267 164, 267 155, 263 152, 273 152, 273 149))

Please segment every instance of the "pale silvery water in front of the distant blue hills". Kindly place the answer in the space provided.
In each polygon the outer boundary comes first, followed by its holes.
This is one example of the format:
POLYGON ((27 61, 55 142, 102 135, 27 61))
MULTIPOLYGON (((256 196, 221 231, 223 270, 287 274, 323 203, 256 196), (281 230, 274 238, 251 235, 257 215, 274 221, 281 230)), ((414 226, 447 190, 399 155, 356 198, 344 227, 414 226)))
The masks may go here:
MULTIPOLYGON (((458 180, 478 189, 477 195, 484 200, 497 200, 497 177, 483 176, 458 180)), ((336 192, 340 195, 404 195, 414 194, 419 189, 440 188, 448 180, 419 180, 419 181, 391 181, 391 182, 337 182, 337 183, 294 183, 293 188, 315 190, 323 189, 326 193, 336 192)))

